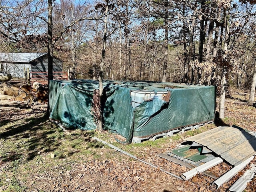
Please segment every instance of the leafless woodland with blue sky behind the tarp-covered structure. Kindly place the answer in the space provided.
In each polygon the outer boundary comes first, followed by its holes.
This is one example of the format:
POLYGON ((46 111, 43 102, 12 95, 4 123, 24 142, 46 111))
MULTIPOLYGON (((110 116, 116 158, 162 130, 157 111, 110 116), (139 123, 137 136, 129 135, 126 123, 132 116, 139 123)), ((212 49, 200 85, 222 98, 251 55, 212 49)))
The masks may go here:
POLYGON ((250 92, 249 102, 254 102, 254 0, 1 0, 0 4, 1 52, 48 52, 50 34, 53 55, 62 59, 63 70, 74 68, 75 78, 102 75, 105 80, 216 85, 220 117, 231 89, 250 92))

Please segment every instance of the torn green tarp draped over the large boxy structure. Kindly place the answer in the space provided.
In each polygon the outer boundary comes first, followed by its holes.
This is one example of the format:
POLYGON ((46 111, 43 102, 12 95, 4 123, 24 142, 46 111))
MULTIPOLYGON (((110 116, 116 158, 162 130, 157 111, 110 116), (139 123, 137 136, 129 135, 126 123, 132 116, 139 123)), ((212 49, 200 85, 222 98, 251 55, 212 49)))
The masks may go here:
MULTIPOLYGON (((50 119, 68 129, 96 129, 91 112, 94 80, 51 81, 50 119)), ((159 94, 158 94, 159 95, 159 94)), ((166 96, 166 94, 165 94, 166 96)), ((135 98, 138 99, 138 98, 135 98)), ((143 99, 143 98, 139 98, 143 99)), ((102 102, 104 129, 116 132, 129 143, 132 137, 154 136, 176 128, 214 119, 215 87, 162 82, 104 81, 102 102), (131 92, 169 93, 170 98, 154 96, 132 107, 131 92)))

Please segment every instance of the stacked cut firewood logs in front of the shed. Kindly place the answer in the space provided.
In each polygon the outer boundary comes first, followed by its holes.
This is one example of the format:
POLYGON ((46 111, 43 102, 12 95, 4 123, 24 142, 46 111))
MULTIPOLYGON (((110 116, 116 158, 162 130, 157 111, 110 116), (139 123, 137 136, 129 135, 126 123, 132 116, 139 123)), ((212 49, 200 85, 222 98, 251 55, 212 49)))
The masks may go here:
MULTIPOLYGON (((47 102, 47 89, 38 82, 34 82, 33 86, 30 84, 16 84, 4 82, 2 86, 2 95, 11 96, 14 101, 25 102, 29 104, 34 102, 47 102)), ((9 97, 10 100, 10 97, 9 97)))

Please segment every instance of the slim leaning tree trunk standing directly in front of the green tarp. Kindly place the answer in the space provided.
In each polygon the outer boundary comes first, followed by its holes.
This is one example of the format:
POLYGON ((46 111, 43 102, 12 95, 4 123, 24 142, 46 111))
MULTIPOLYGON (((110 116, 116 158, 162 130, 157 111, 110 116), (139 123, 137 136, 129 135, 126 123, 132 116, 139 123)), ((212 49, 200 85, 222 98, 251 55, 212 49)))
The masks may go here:
POLYGON ((100 74, 99 74, 99 97, 100 97, 100 119, 98 122, 98 130, 103 130, 103 114, 102 114, 102 95, 103 95, 103 67, 105 64, 105 52, 106 52, 106 41, 107 41, 107 21, 108 21, 108 0, 106 0, 105 20, 104 20, 104 36, 103 36, 103 48, 102 57, 100 62, 100 74))

